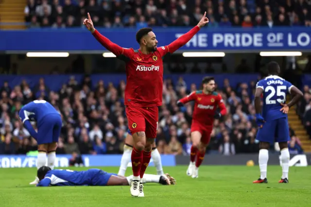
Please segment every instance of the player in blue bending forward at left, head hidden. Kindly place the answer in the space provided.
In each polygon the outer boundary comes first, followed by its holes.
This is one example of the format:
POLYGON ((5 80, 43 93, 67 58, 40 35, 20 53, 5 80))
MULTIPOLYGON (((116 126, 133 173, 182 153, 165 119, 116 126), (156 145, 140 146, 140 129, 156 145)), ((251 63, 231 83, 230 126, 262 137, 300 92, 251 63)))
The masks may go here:
MULTIPOLYGON (((25 128, 38 143, 37 169, 45 165, 53 169, 55 151, 62 128, 61 115, 44 100, 35 100, 24 105, 18 114, 25 128), (38 132, 35 131, 30 121, 36 122, 38 132)), ((35 181, 30 184, 36 185, 38 182, 39 179, 36 177, 35 181)))

